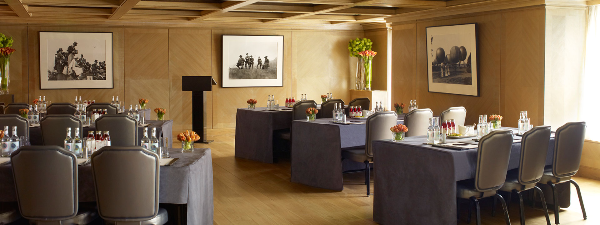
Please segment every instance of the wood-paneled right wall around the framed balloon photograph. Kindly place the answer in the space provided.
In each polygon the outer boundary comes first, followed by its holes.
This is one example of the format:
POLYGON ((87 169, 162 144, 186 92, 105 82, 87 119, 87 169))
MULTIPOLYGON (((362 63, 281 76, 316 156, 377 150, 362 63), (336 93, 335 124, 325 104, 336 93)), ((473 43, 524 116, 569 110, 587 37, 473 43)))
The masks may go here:
POLYGON ((515 127, 527 110, 532 124, 544 116, 543 8, 493 11, 476 16, 392 23, 392 103, 417 99, 434 114, 452 106, 467 108, 466 124, 478 115, 497 113, 503 125, 515 127), (428 92, 427 26, 478 23, 479 97, 428 92))

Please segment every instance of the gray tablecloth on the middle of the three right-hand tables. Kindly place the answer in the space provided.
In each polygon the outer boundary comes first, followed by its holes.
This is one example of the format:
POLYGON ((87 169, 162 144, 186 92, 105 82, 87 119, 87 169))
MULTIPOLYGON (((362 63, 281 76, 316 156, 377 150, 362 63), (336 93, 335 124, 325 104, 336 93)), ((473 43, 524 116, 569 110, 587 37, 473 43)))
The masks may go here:
MULTIPOLYGON (((312 187, 341 191, 342 173, 364 169, 364 163, 341 160, 341 149, 365 145, 365 124, 334 124, 331 118, 292 122, 291 180, 312 187)), ((366 119, 347 119, 366 121, 366 119)), ((398 120, 398 124, 403 121, 398 120)), ((392 133, 389 133, 390 137, 392 133)))

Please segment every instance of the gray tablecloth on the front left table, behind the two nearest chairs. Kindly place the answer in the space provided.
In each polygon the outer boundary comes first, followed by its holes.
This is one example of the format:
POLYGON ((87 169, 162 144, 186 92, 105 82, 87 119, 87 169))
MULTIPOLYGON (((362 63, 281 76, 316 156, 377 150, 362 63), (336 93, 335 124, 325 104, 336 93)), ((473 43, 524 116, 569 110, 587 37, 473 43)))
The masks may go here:
MULTIPOLYGON (((212 224, 213 185, 211 149, 194 149, 181 153, 169 149, 172 158, 179 158, 171 166, 160 167, 159 202, 187 204, 187 224, 212 224)), ((95 202, 92 167, 78 166, 79 202, 95 202)), ((10 164, 0 166, 0 202, 16 202, 13 171, 10 164)))

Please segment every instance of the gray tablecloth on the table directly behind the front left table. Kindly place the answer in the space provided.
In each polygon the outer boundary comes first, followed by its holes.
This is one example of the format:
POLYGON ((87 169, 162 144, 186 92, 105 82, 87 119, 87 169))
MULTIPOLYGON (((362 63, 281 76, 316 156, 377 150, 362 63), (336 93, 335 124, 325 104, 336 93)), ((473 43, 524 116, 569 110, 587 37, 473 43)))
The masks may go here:
MULTIPOLYGON (((173 121, 146 121, 148 125, 148 136, 152 131, 153 127, 156 127, 156 136, 157 137, 169 137, 169 148, 173 148, 173 121)), ((88 136, 88 131, 96 131, 96 127, 91 125, 90 127, 83 127, 83 137, 88 136)), ((142 140, 144 132, 144 127, 137 128, 137 144, 140 144, 142 140)), ((114 138, 114 137, 111 137, 114 138)), ((29 127, 29 142, 31 145, 44 145, 43 139, 41 137, 41 128, 40 127, 29 127)))

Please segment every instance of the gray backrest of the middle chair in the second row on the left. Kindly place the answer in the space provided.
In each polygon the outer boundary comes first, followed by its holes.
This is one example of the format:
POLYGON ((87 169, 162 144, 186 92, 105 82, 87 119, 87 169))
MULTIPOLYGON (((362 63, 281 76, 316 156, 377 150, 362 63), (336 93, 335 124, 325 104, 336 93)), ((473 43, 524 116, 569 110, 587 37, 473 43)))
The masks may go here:
POLYGON ((73 115, 47 115, 41 119, 41 139, 44 145, 64 146, 67 127, 71 128, 71 137, 75 137, 76 127, 79 127, 79 137, 83 137, 83 123, 73 115))

